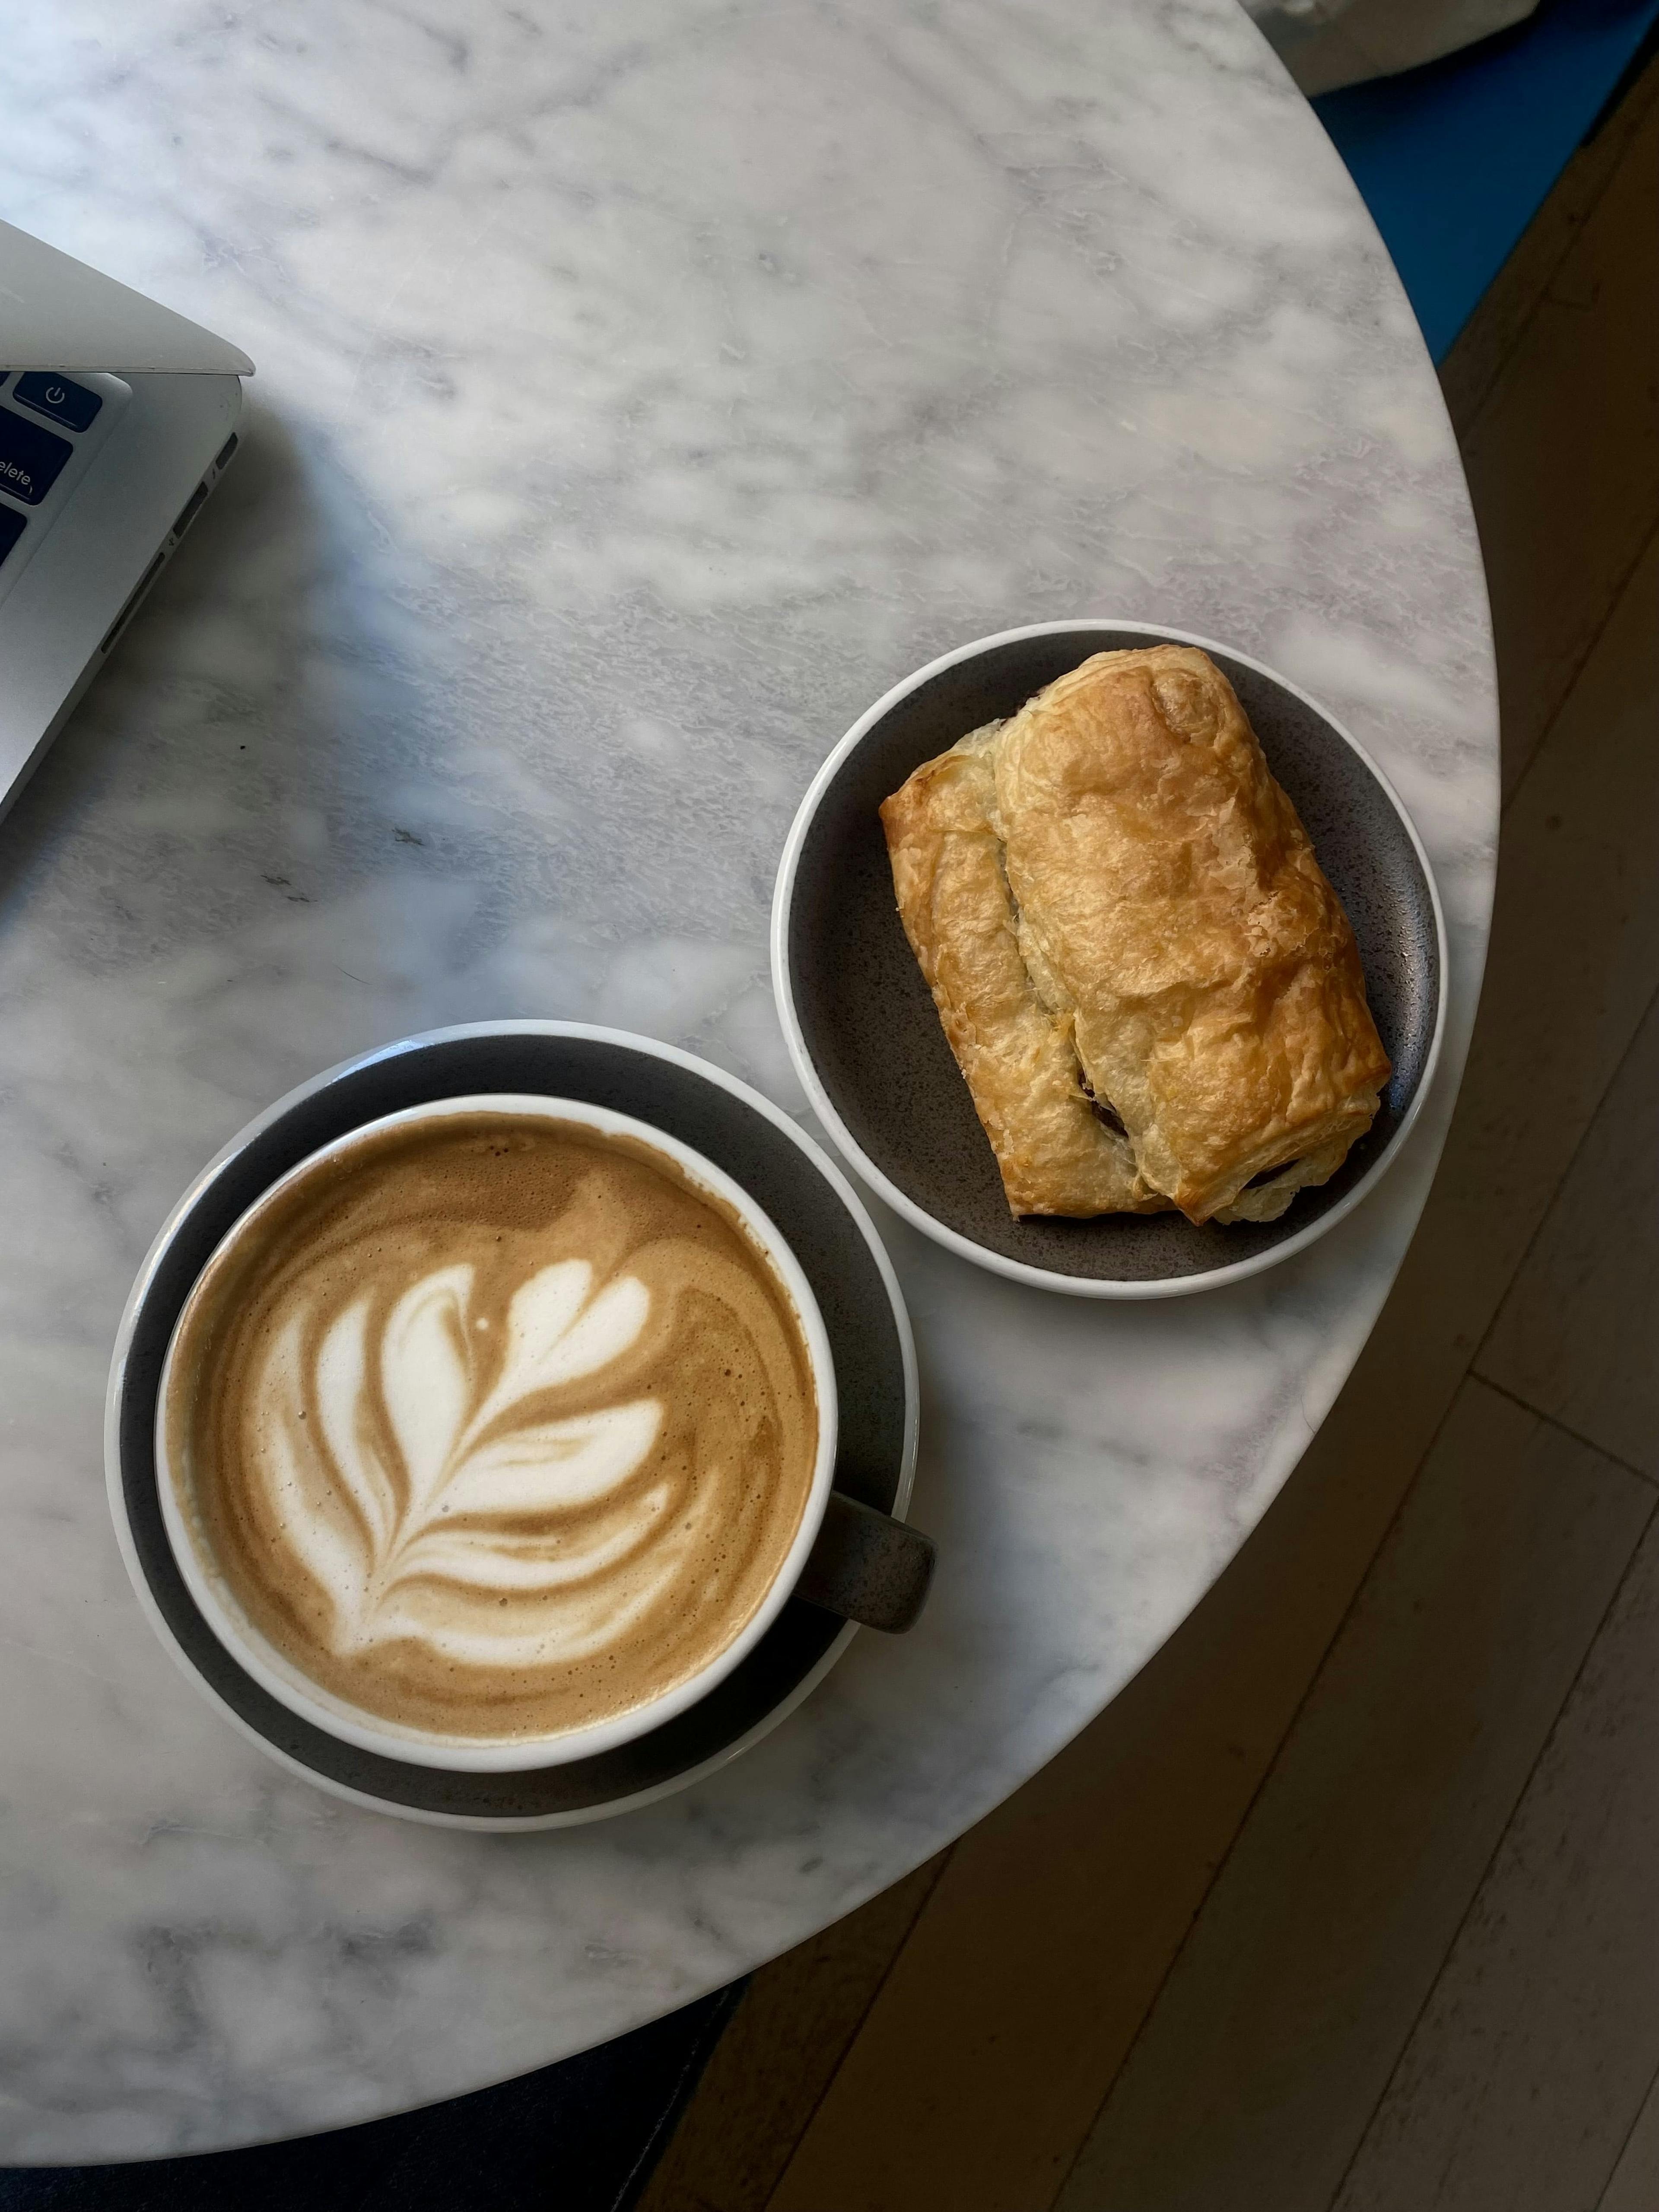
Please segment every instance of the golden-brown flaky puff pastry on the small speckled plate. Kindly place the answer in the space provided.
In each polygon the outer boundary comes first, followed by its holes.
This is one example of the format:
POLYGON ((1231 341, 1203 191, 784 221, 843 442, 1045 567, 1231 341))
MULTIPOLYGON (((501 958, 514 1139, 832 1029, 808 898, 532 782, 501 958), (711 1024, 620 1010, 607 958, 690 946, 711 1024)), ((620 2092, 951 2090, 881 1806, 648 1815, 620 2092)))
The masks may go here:
POLYGON ((880 816, 1015 1214, 1272 1221, 1371 1126, 1354 931, 1206 653, 1097 653, 880 816))

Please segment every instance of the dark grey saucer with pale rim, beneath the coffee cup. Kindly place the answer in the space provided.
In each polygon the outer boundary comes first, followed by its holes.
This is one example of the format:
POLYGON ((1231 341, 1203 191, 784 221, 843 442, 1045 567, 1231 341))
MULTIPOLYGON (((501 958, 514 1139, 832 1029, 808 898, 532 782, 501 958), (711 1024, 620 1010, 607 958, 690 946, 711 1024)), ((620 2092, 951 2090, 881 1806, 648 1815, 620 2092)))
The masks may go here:
POLYGON ((812 1283, 836 1367, 836 1489, 902 1515, 916 1473, 916 1352, 887 1252, 843 1172, 770 1099, 648 1037, 577 1022, 476 1022, 405 1037, 290 1091, 173 1208, 115 1340, 104 1427, 111 1509, 133 1586, 208 1699, 281 1765, 334 1796, 445 1827, 573 1827, 648 1805, 737 1759, 823 1681, 854 1637, 790 1599, 708 1697, 619 1750, 522 1774, 451 1774, 356 1750, 276 1703, 226 1650, 173 1559, 155 1396, 173 1325, 226 1230, 319 1146, 405 1106, 469 1093, 584 1099, 668 1130, 726 1168, 812 1283))

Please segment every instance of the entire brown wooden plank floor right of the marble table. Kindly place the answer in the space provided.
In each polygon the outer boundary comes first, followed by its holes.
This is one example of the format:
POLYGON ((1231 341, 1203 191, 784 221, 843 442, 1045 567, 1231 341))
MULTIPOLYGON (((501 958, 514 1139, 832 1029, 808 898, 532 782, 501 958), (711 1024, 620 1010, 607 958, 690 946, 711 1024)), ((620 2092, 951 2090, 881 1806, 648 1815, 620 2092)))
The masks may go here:
POLYGON ((1659 2208, 1659 66, 1444 385, 1506 814, 1396 1294, 1124 1697, 754 1978, 646 2212, 1659 2208))

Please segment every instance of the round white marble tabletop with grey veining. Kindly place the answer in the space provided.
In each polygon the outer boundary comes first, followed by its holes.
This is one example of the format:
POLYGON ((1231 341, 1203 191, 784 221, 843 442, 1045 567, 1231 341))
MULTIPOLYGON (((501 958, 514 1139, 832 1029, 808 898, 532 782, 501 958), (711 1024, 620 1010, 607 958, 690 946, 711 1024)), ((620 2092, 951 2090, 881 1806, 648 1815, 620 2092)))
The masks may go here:
POLYGON ((1411 1232, 1491 891, 1484 591, 1429 363, 1232 0, 60 0, 0 212, 259 361, 250 440, 0 827, 0 2159, 538 2066, 1002 1798, 1272 1500, 1411 1232), (812 768, 949 644, 1237 641, 1396 776, 1455 956, 1383 1192, 1097 1307, 898 1225, 925 1626, 726 1776, 478 1838, 290 1781, 179 1679, 100 1400, 170 1199, 310 1071, 538 1013, 799 1106, 765 978, 812 768))

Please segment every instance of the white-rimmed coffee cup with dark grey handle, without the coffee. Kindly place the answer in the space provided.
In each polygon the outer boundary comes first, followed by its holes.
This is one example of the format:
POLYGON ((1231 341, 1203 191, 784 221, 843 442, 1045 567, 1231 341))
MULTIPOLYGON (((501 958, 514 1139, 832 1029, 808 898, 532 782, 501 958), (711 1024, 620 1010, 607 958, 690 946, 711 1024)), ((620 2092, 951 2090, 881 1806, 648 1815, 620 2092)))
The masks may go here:
MULTIPOLYGON (((593 1301, 595 1307, 602 1303, 602 1298, 593 1301)), ((476 1325, 484 1327, 484 1321, 476 1325)), ((299 1413, 296 1418, 305 1416, 299 1413)), ((593 1418, 588 1416, 588 1420, 593 1418)), ((787 1241, 726 1170, 703 1159, 677 1137, 630 1115, 577 1099, 482 1093, 411 1106, 349 1130, 290 1168, 288 1175, 261 1192, 241 1214, 201 1270, 197 1290, 186 1301, 173 1329, 157 1391, 155 1464, 161 1517, 179 1575, 212 1635, 270 1697, 325 1734, 363 1752, 458 1774, 507 1774, 611 1752, 670 1721, 703 1699, 743 1661, 792 1597, 801 1597, 847 1621, 889 1632, 911 1626, 931 1579, 933 1546, 918 1531, 834 1489, 836 1427, 834 1360, 812 1285, 787 1241), (184 1356, 181 1343, 188 1336, 197 1296, 217 1276, 221 1263, 234 1265, 239 1256, 259 1250, 261 1234, 268 1232, 270 1221, 296 1183, 314 1179, 319 1168, 327 1164, 349 1170, 356 1150, 365 1150, 400 1128, 409 1133, 436 1130, 453 1117, 489 1115, 513 1117, 515 1121, 549 1121, 560 1130, 568 1130, 575 1139, 586 1135, 602 1144, 619 1141, 635 1157, 644 1155, 646 1161, 661 1164, 670 1179, 677 1177, 684 1186, 690 1186, 692 1194, 710 1201, 717 1212, 734 1223, 741 1239, 752 1248, 750 1263, 759 1254, 763 1267, 770 1270, 772 1283, 787 1298, 790 1318, 812 1378, 816 1420, 805 1506, 794 1524, 787 1548, 783 1548, 759 1604, 741 1617, 726 1641, 719 1641, 712 1657, 706 1657, 692 1672, 681 1674, 657 1694, 628 1703, 604 1719, 546 1732, 518 1730, 502 1736, 478 1732, 449 1734, 420 1723, 387 1719, 365 1705, 356 1705, 338 1688, 321 1683, 290 1652, 279 1648, 257 1619, 250 1617, 250 1610, 223 1571, 223 1562, 215 1555, 208 1517, 199 1509, 201 1500, 195 1489, 192 1425, 188 1413, 181 1411, 181 1407, 190 1405, 190 1383, 184 1380, 181 1387, 175 1387, 186 1376, 186 1369, 177 1363, 184 1356)), ((321 1542, 323 1537, 319 1537, 321 1542)), ((511 1584, 513 1573, 522 1575, 522 1568, 509 1559, 507 1568, 502 1568, 504 1588, 511 1584)))

